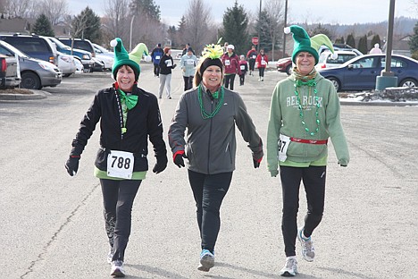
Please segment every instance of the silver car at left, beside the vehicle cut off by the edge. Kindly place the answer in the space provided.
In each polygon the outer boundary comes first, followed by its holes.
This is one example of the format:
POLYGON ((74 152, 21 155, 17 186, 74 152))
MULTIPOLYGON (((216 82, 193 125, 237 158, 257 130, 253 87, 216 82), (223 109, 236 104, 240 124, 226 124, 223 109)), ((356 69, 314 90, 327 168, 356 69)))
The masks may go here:
POLYGON ((21 88, 42 89, 55 87, 63 80, 63 73, 53 63, 31 58, 16 47, 0 40, 0 54, 6 56, 18 55, 21 70, 21 88))

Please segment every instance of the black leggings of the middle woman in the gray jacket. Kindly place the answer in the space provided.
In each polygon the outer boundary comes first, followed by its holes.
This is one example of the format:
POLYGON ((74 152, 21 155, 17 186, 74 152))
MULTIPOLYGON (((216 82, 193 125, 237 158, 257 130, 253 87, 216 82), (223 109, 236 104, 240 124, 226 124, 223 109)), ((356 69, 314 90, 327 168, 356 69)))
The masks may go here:
POLYGON ((204 174, 188 171, 188 181, 196 201, 197 224, 202 249, 213 252, 221 228, 220 208, 230 189, 232 172, 204 174))

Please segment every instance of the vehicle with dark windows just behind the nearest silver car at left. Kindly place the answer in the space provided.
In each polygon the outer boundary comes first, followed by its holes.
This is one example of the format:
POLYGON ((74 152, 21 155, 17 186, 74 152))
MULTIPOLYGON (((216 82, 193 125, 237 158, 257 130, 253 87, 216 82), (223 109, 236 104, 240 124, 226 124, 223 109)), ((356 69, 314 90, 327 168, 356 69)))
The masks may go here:
POLYGON ((0 39, 33 58, 58 65, 58 53, 49 39, 38 35, 4 34, 0 39))

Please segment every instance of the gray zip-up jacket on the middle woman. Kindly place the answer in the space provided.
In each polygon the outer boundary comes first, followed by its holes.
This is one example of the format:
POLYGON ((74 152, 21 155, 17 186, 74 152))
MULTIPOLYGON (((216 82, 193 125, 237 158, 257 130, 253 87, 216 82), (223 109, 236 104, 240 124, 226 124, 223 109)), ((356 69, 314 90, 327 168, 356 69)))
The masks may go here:
MULTIPOLYGON (((213 112, 219 99, 202 87, 205 111, 213 112)), ((188 169, 196 173, 229 173, 235 170, 237 142, 235 125, 248 142, 253 159, 263 157, 263 142, 247 114, 247 107, 238 93, 224 89, 221 109, 213 118, 204 119, 198 100, 198 87, 181 95, 168 132, 173 156, 185 152, 188 169), (184 139, 188 130, 187 141, 184 139)))

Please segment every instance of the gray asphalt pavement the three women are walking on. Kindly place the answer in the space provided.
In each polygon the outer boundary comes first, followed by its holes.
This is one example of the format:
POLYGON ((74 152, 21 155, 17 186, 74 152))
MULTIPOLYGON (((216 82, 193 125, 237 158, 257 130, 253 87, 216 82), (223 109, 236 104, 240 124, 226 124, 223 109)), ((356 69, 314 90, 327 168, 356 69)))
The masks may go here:
MULTIPOLYGON (((157 93, 144 64, 139 84, 157 93)), ((247 77, 236 90, 266 136, 272 89, 285 75, 247 77)), ((82 115, 109 73, 78 74, 42 100, 0 101, 1 278, 108 278, 102 199, 93 162, 98 131, 70 177, 63 163, 82 115)), ((163 98, 164 138, 182 93, 173 74, 163 98)), ((299 278, 418 278, 418 106, 342 106, 352 156, 339 167, 330 148, 326 208, 314 232, 317 257, 299 257, 299 278)), ((98 128, 97 128, 98 129, 98 128)), ((150 162, 154 164, 151 152, 150 162)), ((301 190, 299 223, 305 215, 301 190)), ((216 266, 196 270, 200 241, 187 172, 169 162, 148 173, 133 208, 129 278, 278 278, 284 264, 280 179, 255 170, 238 133, 237 170, 222 206, 216 266)), ((297 246, 297 252, 300 249, 297 246)))

